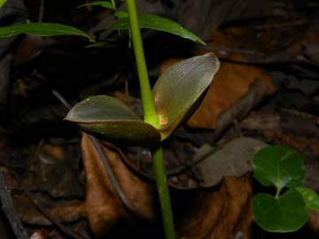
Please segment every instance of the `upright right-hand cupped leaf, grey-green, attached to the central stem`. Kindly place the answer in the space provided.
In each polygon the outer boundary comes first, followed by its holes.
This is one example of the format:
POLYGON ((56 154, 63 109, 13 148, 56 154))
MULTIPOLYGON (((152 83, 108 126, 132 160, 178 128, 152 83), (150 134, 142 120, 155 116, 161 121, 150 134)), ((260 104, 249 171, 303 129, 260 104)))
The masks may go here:
POLYGON ((170 66, 153 89, 162 140, 190 115, 220 66, 213 53, 189 58, 170 66))

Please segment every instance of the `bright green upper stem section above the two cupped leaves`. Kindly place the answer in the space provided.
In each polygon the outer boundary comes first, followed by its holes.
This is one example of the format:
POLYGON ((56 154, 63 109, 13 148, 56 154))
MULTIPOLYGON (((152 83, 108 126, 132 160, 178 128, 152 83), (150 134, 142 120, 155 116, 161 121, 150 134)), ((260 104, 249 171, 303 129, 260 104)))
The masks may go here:
POLYGON ((142 103, 144 108, 144 121, 152 124, 152 126, 154 127, 157 127, 159 125, 159 120, 156 115, 154 99, 152 96, 152 90, 148 78, 142 36, 138 25, 135 0, 127 0, 127 5, 128 19, 133 40, 134 52, 136 56, 137 73, 138 79, 140 81, 142 103))

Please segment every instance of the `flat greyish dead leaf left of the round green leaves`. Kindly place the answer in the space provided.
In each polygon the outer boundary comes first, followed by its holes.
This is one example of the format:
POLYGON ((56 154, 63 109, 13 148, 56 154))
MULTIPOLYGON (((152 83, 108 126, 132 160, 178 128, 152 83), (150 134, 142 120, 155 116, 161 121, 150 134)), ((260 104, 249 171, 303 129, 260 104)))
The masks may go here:
MULTIPOLYGON (((200 176, 198 181, 191 177, 180 181, 170 181, 177 189, 197 189, 214 187, 222 181, 223 177, 240 177, 245 173, 252 172, 250 161, 253 155, 265 147, 267 143, 249 137, 239 137, 226 143, 216 150, 208 144, 204 144, 192 159, 192 164, 200 176)), ((177 178, 184 178, 186 173, 176 175, 177 178)))

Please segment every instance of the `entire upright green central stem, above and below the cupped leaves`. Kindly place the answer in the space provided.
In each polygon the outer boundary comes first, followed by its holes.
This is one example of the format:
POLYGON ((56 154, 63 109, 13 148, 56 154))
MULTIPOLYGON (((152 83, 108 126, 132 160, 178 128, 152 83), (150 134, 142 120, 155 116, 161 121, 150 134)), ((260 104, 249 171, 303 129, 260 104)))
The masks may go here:
MULTIPOLYGON (((144 121, 152 124, 152 126, 154 127, 158 127, 159 119, 156 114, 154 98, 152 96, 152 90, 145 63, 142 36, 138 25, 136 13, 136 3, 135 0, 127 0, 126 3, 128 6, 128 19, 130 23, 133 47, 136 56, 137 73, 140 82, 142 103, 144 108, 144 121)), ((152 159, 156 176, 156 185, 159 194, 159 204, 162 212, 165 236, 166 239, 175 239, 172 206, 170 203, 167 185, 167 175, 164 165, 163 150, 160 145, 152 150, 152 159)))

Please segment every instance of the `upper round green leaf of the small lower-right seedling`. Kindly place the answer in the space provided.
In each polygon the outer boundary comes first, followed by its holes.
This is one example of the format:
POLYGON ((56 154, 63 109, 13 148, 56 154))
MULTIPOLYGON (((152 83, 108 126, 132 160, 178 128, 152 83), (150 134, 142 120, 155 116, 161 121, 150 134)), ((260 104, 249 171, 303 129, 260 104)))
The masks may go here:
POLYGON ((276 189, 298 187, 305 182, 305 166, 300 154, 288 147, 272 146, 257 152, 253 158, 255 178, 276 189))

